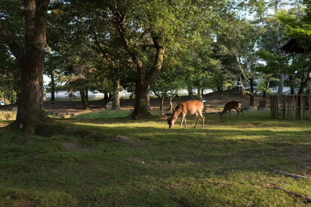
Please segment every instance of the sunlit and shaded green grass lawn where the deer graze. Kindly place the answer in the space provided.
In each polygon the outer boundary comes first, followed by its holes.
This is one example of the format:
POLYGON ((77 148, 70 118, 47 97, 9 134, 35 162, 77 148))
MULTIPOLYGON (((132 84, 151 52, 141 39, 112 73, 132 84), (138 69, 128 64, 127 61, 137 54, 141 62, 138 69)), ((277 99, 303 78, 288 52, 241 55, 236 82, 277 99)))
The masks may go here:
POLYGON ((60 120, 138 147, 61 134, 30 141, 2 128, 0 206, 311 206, 273 188, 311 196, 311 122, 244 114, 205 114, 204 129, 192 128, 194 115, 186 129, 180 119, 169 129, 160 116, 60 120))

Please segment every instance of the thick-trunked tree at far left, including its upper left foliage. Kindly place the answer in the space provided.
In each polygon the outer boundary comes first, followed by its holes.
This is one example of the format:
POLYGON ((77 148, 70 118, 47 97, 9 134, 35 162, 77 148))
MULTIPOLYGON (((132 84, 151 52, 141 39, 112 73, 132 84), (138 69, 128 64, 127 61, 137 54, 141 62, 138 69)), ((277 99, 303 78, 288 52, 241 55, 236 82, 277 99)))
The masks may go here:
POLYGON ((0 38, 15 56, 21 75, 21 93, 14 124, 25 125, 30 132, 35 128, 32 122, 46 117, 43 111, 43 69, 49 2, 0 1, 6 6, 1 11, 0 38))

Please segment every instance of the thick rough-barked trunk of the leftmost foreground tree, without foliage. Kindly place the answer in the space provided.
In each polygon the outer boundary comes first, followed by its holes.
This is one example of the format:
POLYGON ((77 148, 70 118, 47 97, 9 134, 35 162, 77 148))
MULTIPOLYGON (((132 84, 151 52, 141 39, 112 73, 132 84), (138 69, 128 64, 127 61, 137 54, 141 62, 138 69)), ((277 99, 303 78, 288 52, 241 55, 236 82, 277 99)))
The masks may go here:
POLYGON ((43 68, 48 5, 49 0, 25 0, 25 47, 12 47, 12 39, 8 43, 19 64, 21 75, 16 122, 26 133, 34 133, 35 123, 46 119, 43 111, 43 68))

